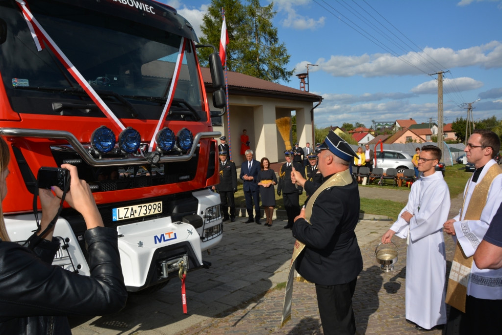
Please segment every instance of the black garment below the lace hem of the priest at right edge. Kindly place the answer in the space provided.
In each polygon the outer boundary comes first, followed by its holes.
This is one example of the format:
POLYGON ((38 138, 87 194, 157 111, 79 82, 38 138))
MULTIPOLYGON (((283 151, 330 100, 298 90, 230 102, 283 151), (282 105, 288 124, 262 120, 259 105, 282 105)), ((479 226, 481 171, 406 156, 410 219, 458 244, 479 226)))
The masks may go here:
POLYGON ((456 308, 450 308, 447 335, 495 335, 502 333, 500 316, 502 315, 502 300, 478 299, 468 295, 465 300, 465 313, 456 308))

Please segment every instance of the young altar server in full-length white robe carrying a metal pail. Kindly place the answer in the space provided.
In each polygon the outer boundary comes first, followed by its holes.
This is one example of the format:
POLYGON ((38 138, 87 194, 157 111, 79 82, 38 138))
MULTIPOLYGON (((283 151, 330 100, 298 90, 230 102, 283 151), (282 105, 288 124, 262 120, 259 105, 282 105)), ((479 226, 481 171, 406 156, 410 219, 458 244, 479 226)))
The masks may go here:
POLYGON ((390 243, 394 234, 407 239, 406 320, 418 330, 446 323, 446 253, 443 222, 450 210, 448 185, 440 171, 438 147, 422 147, 418 161, 420 179, 413 183, 408 203, 391 229, 382 237, 390 243))

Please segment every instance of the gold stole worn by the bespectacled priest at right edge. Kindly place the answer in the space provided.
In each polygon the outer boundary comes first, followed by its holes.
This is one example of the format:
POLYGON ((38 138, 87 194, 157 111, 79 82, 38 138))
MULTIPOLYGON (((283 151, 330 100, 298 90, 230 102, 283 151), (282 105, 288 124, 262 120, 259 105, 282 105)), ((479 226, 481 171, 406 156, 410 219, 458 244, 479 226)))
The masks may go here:
MULTIPOLYGON (((462 213, 465 206, 465 196, 469 190, 469 186, 466 187, 464 193, 464 203, 462 204, 462 209, 460 209, 460 219, 462 220, 479 220, 484 206, 486 205, 486 200, 488 198, 488 191, 490 189, 491 182, 493 179, 502 173, 502 169, 498 164, 492 165, 480 183, 476 184, 472 196, 465 210, 465 216, 462 218, 462 213)), ((469 179, 469 184, 470 181, 469 179)), ((450 275, 448 276, 448 289, 446 291, 446 303, 455 307, 456 309, 465 313, 465 300, 467 297, 467 284, 469 282, 469 275, 472 268, 472 256, 466 257, 462 247, 457 241, 455 245, 455 255, 453 256, 453 261, 451 263, 450 275)))

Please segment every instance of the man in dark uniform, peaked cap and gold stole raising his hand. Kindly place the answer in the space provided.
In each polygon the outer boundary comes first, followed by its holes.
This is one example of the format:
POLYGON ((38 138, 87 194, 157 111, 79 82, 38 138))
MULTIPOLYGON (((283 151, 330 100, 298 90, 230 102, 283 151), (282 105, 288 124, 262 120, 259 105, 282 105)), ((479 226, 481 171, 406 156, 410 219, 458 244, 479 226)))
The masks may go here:
POLYGON ((312 194, 293 224, 293 237, 305 245, 293 262, 302 277, 315 283, 324 333, 354 334, 352 296, 362 270, 354 233, 359 190, 348 169, 355 152, 333 131, 320 149, 321 185, 305 180, 299 171, 292 175, 293 182, 312 194))

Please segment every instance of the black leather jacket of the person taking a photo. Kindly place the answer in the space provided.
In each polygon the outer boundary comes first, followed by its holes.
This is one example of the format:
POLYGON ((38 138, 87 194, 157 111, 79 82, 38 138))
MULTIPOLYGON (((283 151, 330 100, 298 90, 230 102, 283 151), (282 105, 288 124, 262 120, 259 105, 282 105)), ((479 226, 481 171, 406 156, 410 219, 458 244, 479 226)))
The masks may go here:
POLYGON ((0 240, 0 334, 71 334, 66 315, 103 315, 126 305, 117 232, 85 232, 90 277, 51 265, 59 242, 33 250, 0 240))

